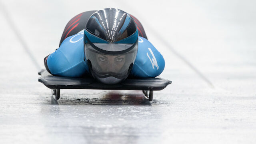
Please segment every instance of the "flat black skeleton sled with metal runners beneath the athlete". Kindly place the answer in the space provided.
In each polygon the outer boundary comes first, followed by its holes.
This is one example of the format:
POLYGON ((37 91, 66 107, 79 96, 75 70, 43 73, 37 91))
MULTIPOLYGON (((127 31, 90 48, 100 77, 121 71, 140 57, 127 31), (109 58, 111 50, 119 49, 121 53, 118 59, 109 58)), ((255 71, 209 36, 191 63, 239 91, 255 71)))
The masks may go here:
POLYGON ((41 75, 38 82, 52 89, 55 100, 60 98, 60 89, 97 89, 97 90, 142 90, 149 101, 153 100, 153 91, 162 90, 171 84, 170 80, 163 78, 141 78, 126 79, 124 82, 115 85, 106 85, 96 81, 94 78, 70 78, 52 76, 46 69, 38 72, 41 75))

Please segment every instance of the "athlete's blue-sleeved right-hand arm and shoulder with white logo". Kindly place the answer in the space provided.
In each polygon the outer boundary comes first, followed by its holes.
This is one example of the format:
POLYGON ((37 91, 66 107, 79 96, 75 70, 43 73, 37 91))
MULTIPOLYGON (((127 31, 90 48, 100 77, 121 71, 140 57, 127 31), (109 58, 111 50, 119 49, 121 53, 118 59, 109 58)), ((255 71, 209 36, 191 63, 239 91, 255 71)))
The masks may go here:
POLYGON ((145 38, 139 36, 138 54, 131 76, 135 78, 154 78, 162 73, 165 62, 162 54, 145 38))

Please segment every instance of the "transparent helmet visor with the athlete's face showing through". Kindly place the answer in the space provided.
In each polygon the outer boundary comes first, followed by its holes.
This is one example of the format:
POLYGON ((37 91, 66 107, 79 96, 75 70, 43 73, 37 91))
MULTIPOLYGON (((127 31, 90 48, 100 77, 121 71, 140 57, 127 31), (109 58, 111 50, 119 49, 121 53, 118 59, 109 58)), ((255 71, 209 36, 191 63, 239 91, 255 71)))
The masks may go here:
POLYGON ((138 51, 138 43, 123 54, 105 54, 95 50, 90 44, 85 47, 86 60, 92 75, 105 84, 116 84, 127 78, 138 51))

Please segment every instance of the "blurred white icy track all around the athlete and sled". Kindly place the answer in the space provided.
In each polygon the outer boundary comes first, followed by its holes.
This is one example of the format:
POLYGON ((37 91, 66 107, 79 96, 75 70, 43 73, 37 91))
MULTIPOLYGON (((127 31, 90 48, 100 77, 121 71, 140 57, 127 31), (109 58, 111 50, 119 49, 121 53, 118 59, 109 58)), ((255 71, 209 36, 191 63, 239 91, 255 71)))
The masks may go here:
POLYGON ((0 143, 253 143, 256 1, 0 0, 0 143), (67 22, 119 8, 166 60, 154 93, 62 90, 37 81, 67 22))

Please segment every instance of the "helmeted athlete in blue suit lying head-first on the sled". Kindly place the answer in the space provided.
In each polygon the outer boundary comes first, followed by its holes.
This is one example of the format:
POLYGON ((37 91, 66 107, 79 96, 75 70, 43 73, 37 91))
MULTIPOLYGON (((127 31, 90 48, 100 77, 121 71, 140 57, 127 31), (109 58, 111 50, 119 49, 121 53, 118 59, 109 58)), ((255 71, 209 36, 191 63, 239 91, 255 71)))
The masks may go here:
POLYGON ((87 11, 66 25, 55 52, 44 58, 54 76, 93 77, 104 84, 162 73, 163 56, 137 18, 116 8, 87 11))

